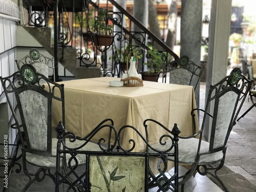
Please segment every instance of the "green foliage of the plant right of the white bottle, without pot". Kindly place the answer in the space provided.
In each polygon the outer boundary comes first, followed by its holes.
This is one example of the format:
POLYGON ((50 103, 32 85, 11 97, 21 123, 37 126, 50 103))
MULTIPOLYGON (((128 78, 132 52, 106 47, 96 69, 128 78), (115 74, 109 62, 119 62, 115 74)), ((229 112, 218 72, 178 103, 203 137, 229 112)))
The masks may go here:
POLYGON ((162 54, 160 54, 153 46, 147 44, 148 51, 146 54, 147 62, 143 65, 147 66, 147 73, 160 73, 164 66, 162 54))

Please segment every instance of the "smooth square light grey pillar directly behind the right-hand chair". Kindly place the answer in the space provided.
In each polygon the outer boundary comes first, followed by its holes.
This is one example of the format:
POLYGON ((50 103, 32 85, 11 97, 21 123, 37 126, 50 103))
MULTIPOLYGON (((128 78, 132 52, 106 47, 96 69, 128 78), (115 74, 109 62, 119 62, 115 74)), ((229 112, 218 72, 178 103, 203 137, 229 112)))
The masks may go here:
MULTIPOLYGON (((205 101, 210 84, 216 84, 227 75, 231 3, 232 0, 212 0, 211 2, 205 101)), ((208 112, 212 114, 213 109, 214 106, 210 105, 208 112)), ((207 120, 204 128, 206 140, 210 137, 210 125, 210 120, 207 120)))

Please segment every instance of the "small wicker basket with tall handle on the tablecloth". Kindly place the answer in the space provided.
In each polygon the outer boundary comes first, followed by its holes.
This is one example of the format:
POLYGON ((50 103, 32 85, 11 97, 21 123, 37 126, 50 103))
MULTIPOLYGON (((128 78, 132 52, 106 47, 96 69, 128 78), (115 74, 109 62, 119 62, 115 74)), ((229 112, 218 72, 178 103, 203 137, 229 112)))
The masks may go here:
MULTIPOLYGON (((129 69, 129 56, 131 53, 134 53, 136 55, 136 70, 138 69, 138 55, 136 52, 131 51, 128 56, 127 56, 127 69, 129 69)), ((128 77, 121 79, 123 81, 123 86, 126 87, 140 87, 143 86, 143 80, 140 79, 139 77, 129 77, 129 73, 127 72, 128 77)))

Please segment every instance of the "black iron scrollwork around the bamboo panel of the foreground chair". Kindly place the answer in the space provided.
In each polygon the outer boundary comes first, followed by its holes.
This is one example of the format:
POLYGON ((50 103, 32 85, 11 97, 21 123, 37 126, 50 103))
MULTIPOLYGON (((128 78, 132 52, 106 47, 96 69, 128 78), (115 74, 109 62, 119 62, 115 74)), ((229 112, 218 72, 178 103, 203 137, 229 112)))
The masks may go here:
MULTIPOLYGON (((168 160, 166 159, 169 156, 178 158, 178 155, 170 152, 170 150, 172 150, 174 147, 177 149, 177 141, 178 141, 178 134, 180 133, 177 124, 175 125, 175 128, 173 129, 173 131, 170 131, 170 133, 174 133, 176 134, 174 137, 175 139, 173 139, 173 143, 170 144, 169 147, 167 147, 167 150, 164 151, 159 151, 156 150, 155 148, 153 148, 147 141, 147 138, 144 138, 144 136, 134 127, 131 125, 125 125, 122 126, 119 131, 117 131, 115 129, 115 127, 113 126, 113 121, 111 119, 106 119, 103 123, 100 123, 91 133, 88 134, 88 136, 84 137, 84 138, 79 138, 76 137, 76 135, 74 133, 71 132, 66 132, 64 127, 62 126, 62 123, 60 122, 58 124, 58 126, 56 127, 56 131, 57 131, 57 138, 58 138, 58 143, 61 145, 58 145, 59 147, 57 148, 57 162, 60 163, 60 157, 65 157, 64 154, 68 154, 69 157, 69 161, 67 163, 67 172, 65 173, 65 175, 63 175, 62 173, 60 173, 58 171, 57 168, 57 172, 56 172, 56 183, 59 185, 61 184, 61 182, 65 182, 68 185, 70 185, 70 188, 77 188, 79 191, 84 191, 84 190, 88 190, 92 187, 91 181, 90 181, 90 158, 93 158, 94 156, 96 156, 98 164, 97 166, 100 167, 101 173, 102 170, 104 170, 103 168, 103 164, 101 163, 101 157, 104 158, 108 158, 108 159, 113 159, 113 157, 137 157, 138 159, 144 159, 143 161, 145 162, 145 183, 147 183, 147 186, 145 187, 145 191, 148 191, 148 189, 153 188, 153 187, 159 187, 159 190, 162 191, 167 191, 167 190, 172 190, 172 191, 178 191, 178 167, 176 169, 176 172, 174 173, 174 175, 170 176, 168 175, 168 177, 165 175, 166 174, 166 170, 167 170, 167 162, 168 160), (110 124, 105 124, 107 121, 110 121, 110 124), (104 131, 104 136, 102 137, 102 133, 101 131, 104 131), (150 146, 154 152, 134 152, 135 147, 137 147, 138 142, 133 139, 133 138, 124 138, 124 131, 127 132, 133 132, 137 135, 137 140, 142 140, 143 144, 150 146), (100 135, 99 135, 100 134, 100 135), (97 137, 97 135, 99 137, 97 137), (88 150, 82 150, 83 147, 86 147, 90 142, 93 142, 93 138, 97 137, 99 139, 97 139, 97 143, 98 146, 100 148, 101 151, 88 151, 88 150), (75 143, 77 141, 83 141, 81 144, 79 144, 78 147, 70 147, 69 144, 67 143, 75 143), (128 142, 128 143, 127 143, 128 142), (116 151, 115 149, 118 147, 118 151, 116 151), (62 154, 62 155, 60 155, 62 154), (78 161, 79 161, 79 157, 78 155, 83 155, 86 156, 87 162, 86 162, 86 170, 84 173, 82 173, 81 175, 79 175, 77 173, 77 167, 78 167, 78 161), (155 176, 151 170, 151 166, 149 164, 150 161, 150 157, 155 157, 155 158, 159 158, 160 160, 156 162, 157 164, 157 169, 159 174, 157 176, 155 176), (71 163, 73 162, 73 164, 71 163), (58 179, 60 178, 60 180, 58 179), (83 179, 85 178, 85 179, 83 179), (69 179, 72 179, 69 180, 69 179)), ((146 134, 147 135, 147 134, 146 134)), ((162 136, 166 137, 167 135, 162 136)), ((172 139, 172 136, 168 137, 170 139, 172 139)), ((162 139, 160 139, 162 140, 162 139)), ((94 140, 95 141, 95 140, 94 140)), ((65 158, 63 159, 65 160, 65 158)), ((95 160, 95 159, 94 159, 95 160)), ((66 160, 65 160, 66 161, 66 160)), ((109 160, 108 160, 109 161, 109 160)), ((115 161, 115 160, 114 160, 115 161)), ((57 163, 57 164, 58 164, 57 163)), ((112 162, 109 162, 112 165, 112 162)), ((114 163, 114 162, 113 162, 114 163)), ((106 166, 106 165, 104 165, 106 166)), ((92 169, 94 169, 95 166, 92 167, 92 169)), ((115 169, 113 170, 113 172, 109 172, 110 174, 110 180, 120 180, 123 179, 125 176, 115 176, 117 169, 120 167, 115 167, 115 169)), ((125 172, 129 173, 129 170, 127 170, 129 168, 126 168, 125 172)), ((99 173, 100 174, 100 173, 99 173)), ((103 171, 103 177, 106 179, 106 174, 103 171)), ((107 182, 106 184, 108 184, 109 182, 107 182)), ((103 184, 104 185, 104 184, 103 184)), ((102 186, 103 186, 102 185, 102 186)), ((132 185, 132 183, 131 183, 132 185)), ((95 187, 95 186, 94 186, 95 187)), ((74 189, 73 188, 73 189, 74 189)))

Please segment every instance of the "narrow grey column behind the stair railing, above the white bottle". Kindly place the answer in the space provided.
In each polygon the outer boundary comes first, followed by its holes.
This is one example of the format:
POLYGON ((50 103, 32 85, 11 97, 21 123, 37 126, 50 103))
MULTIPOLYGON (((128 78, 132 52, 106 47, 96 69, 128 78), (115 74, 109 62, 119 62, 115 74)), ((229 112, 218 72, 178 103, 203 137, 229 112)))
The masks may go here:
MULTIPOLYGON (((148 0, 134 0, 133 16, 139 20, 139 22, 147 28, 148 23, 148 0)), ((141 29, 134 25, 133 31, 139 32, 141 29)), ((138 36, 141 38, 141 36, 138 36)), ((138 71, 142 71, 142 63, 138 63, 138 71)))

